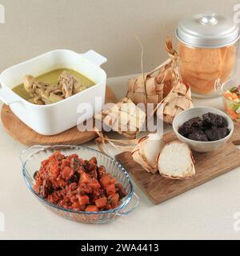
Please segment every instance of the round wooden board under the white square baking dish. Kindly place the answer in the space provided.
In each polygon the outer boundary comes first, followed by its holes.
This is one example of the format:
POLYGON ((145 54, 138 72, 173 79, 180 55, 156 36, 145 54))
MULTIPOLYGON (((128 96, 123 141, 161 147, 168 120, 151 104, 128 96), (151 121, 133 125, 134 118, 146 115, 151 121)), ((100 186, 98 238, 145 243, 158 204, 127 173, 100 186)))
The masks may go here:
MULTIPOLYGON (((116 96, 108 86, 106 86, 106 103, 107 102, 116 102, 116 96)), ((77 127, 53 136, 38 134, 29 126, 26 126, 26 124, 14 115, 10 110, 10 107, 6 105, 2 106, 1 118, 2 125, 6 132, 10 134, 14 140, 27 146, 56 144, 80 145, 97 137, 97 134, 94 131, 80 132, 77 127)))

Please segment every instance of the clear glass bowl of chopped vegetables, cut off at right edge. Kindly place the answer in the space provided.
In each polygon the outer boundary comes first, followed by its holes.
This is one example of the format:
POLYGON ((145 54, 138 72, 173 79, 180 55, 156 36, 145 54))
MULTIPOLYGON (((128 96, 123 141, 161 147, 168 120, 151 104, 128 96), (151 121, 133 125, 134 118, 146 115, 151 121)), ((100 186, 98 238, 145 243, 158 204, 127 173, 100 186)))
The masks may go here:
POLYGON ((221 82, 217 79, 215 82, 215 91, 222 96, 223 108, 226 114, 234 120, 234 122, 240 123, 240 102, 234 102, 234 100, 227 98, 224 94, 226 90, 230 90, 232 87, 238 86, 238 82, 233 78, 228 79, 226 82, 221 82), (239 112, 239 113, 238 113, 239 112))

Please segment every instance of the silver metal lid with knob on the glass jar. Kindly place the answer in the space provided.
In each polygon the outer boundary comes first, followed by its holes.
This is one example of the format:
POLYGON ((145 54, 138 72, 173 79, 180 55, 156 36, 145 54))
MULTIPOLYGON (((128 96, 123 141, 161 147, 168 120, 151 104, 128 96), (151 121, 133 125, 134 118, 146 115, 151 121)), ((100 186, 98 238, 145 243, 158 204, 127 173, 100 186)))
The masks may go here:
POLYGON ((176 35, 186 45, 201 48, 229 46, 240 36, 233 18, 213 12, 183 18, 178 23, 176 35))

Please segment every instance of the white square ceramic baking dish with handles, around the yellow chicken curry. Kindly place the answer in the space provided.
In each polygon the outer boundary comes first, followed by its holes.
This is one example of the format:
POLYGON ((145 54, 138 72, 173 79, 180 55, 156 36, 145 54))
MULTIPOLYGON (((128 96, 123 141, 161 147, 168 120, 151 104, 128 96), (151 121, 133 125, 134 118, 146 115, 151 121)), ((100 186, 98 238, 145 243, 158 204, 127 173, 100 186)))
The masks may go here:
POLYGON ((91 118, 94 113, 77 112, 79 103, 89 103, 94 111, 101 110, 101 104, 95 106, 95 96, 105 100, 106 73, 100 66, 106 58, 90 50, 77 54, 72 50, 53 50, 12 66, 0 75, 0 99, 38 134, 54 135, 74 127, 91 118), (12 88, 22 83, 26 74, 38 76, 60 68, 69 68, 84 74, 96 84, 82 92, 50 105, 34 105, 15 94, 12 88))

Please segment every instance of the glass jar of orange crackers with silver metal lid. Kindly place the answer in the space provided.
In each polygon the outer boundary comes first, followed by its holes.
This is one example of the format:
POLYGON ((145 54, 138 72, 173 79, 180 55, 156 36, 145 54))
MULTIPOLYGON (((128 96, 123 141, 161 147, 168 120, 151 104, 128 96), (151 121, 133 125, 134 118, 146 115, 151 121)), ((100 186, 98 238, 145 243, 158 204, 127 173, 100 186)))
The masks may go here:
POLYGON ((238 25, 232 18, 209 12, 182 19, 176 34, 182 81, 191 86, 194 96, 217 96, 215 80, 224 82, 234 71, 238 25))

